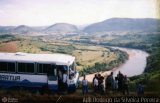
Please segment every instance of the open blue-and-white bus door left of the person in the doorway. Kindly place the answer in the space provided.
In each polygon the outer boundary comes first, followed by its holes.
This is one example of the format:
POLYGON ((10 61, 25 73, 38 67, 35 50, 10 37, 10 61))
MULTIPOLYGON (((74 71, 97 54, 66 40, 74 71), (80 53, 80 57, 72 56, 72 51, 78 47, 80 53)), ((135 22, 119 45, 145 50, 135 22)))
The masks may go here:
POLYGON ((55 64, 51 65, 50 69, 48 70, 47 76, 48 76, 48 88, 50 90, 56 91, 58 89, 58 77, 55 64))

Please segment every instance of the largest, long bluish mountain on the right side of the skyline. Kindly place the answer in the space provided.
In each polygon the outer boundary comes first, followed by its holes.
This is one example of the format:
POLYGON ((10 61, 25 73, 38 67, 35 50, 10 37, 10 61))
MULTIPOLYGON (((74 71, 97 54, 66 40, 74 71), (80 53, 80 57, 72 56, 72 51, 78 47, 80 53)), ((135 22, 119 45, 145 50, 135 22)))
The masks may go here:
POLYGON ((107 32, 107 31, 155 31, 160 27, 159 19, 131 19, 112 18, 91 24, 83 29, 84 32, 107 32))

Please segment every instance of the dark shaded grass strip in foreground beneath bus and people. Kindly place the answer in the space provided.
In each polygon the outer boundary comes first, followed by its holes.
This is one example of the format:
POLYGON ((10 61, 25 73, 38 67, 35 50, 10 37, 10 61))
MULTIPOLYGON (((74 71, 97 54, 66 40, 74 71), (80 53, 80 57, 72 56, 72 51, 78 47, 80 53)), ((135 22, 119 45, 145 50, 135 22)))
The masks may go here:
MULTIPOLYGON (((158 97, 160 96, 160 94, 156 93, 156 92, 145 92, 143 97, 158 97)), ((116 93, 112 93, 110 92, 109 94, 99 94, 97 93, 96 95, 93 94, 93 91, 91 89, 89 89, 89 93, 86 95, 82 95, 82 90, 81 89, 77 89, 75 93, 71 93, 71 94, 66 94, 66 95, 61 95, 58 93, 54 93, 54 94, 49 94, 49 93, 31 93, 28 90, 0 90, 0 98, 3 97, 7 97, 7 98, 15 98, 18 99, 18 102, 56 102, 58 100, 58 102, 63 102, 63 103, 74 103, 76 101, 76 103, 81 103, 84 101, 84 99, 86 98, 111 98, 111 97, 115 97, 115 98, 121 98, 121 97, 138 97, 137 93, 135 91, 131 91, 129 95, 122 95, 122 93, 116 92, 116 93)))

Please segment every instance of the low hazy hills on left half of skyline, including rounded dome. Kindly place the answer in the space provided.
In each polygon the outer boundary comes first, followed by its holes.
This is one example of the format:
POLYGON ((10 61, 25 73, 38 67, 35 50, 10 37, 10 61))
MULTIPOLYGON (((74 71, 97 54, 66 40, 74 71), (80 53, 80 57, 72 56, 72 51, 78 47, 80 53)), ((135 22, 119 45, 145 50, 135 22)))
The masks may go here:
POLYGON ((77 33, 79 30, 75 25, 67 23, 57 23, 51 26, 37 26, 30 27, 26 25, 19 26, 0 26, 0 33, 11 33, 11 34, 67 34, 77 33))

